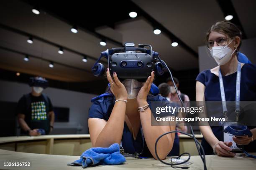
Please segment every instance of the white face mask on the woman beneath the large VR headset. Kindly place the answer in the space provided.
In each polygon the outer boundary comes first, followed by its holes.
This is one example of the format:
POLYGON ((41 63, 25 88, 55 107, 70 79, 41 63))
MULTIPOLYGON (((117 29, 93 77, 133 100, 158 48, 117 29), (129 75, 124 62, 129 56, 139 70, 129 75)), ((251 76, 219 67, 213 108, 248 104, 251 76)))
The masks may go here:
POLYGON ((137 97, 138 92, 141 90, 141 87, 143 86, 143 82, 139 82, 135 79, 126 79, 123 80, 123 85, 125 86, 125 89, 128 94, 128 99, 134 99, 137 97))

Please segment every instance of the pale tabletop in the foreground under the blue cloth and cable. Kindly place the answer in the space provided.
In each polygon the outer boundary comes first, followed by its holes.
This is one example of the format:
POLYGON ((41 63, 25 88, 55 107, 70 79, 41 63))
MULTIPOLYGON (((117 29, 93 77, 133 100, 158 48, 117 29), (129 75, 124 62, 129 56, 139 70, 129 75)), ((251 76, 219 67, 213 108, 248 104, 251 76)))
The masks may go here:
MULTIPOLYGON (((34 153, 20 153, 8 150, 0 150, 0 169, 8 170, 82 170, 81 166, 67 166, 79 159, 79 156, 44 155, 34 153), (30 162, 31 167, 4 167, 4 162, 30 162)), ((165 160, 168 161, 168 160, 165 160)), ((199 156, 191 156, 188 165, 189 170, 202 170, 203 165, 199 156)), ((207 155, 206 163, 208 170, 255 170, 256 160, 237 154, 235 158, 224 158, 217 155, 207 155)), ((88 167, 94 170, 169 170, 168 165, 154 159, 127 158, 123 165, 99 165, 88 167)))

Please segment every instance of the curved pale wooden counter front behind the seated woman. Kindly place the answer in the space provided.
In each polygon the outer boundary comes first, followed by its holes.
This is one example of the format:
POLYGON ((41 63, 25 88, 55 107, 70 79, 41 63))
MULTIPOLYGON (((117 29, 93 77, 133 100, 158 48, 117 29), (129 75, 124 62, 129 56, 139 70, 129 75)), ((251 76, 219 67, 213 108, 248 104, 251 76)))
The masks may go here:
MULTIPOLYGON (((202 135, 195 135, 201 141, 202 135)), ((198 155, 194 140, 187 135, 179 135, 180 153, 198 155)), ((0 149, 52 155, 81 155, 92 147, 89 134, 11 136, 0 138, 0 149)))

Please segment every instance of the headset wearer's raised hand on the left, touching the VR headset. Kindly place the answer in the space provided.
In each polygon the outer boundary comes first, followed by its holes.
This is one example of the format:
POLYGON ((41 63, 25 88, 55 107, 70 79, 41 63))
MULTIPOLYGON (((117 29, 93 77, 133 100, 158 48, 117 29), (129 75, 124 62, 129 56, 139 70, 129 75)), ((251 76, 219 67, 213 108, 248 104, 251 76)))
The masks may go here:
POLYGON ((115 100, 121 99, 121 100, 127 100, 127 91, 125 89, 125 86, 123 85, 120 80, 118 80, 116 72, 113 73, 113 78, 112 79, 109 69, 107 69, 107 77, 108 77, 108 82, 110 83, 110 90, 115 96, 115 100))

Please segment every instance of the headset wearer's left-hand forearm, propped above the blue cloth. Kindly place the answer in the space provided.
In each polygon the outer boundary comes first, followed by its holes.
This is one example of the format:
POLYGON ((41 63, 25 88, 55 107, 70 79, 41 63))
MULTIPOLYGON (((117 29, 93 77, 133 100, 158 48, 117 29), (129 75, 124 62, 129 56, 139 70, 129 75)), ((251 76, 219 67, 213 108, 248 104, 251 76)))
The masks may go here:
POLYGON ((109 147, 113 143, 120 143, 123 135, 126 103, 115 103, 107 124, 97 137, 94 147, 109 147))

